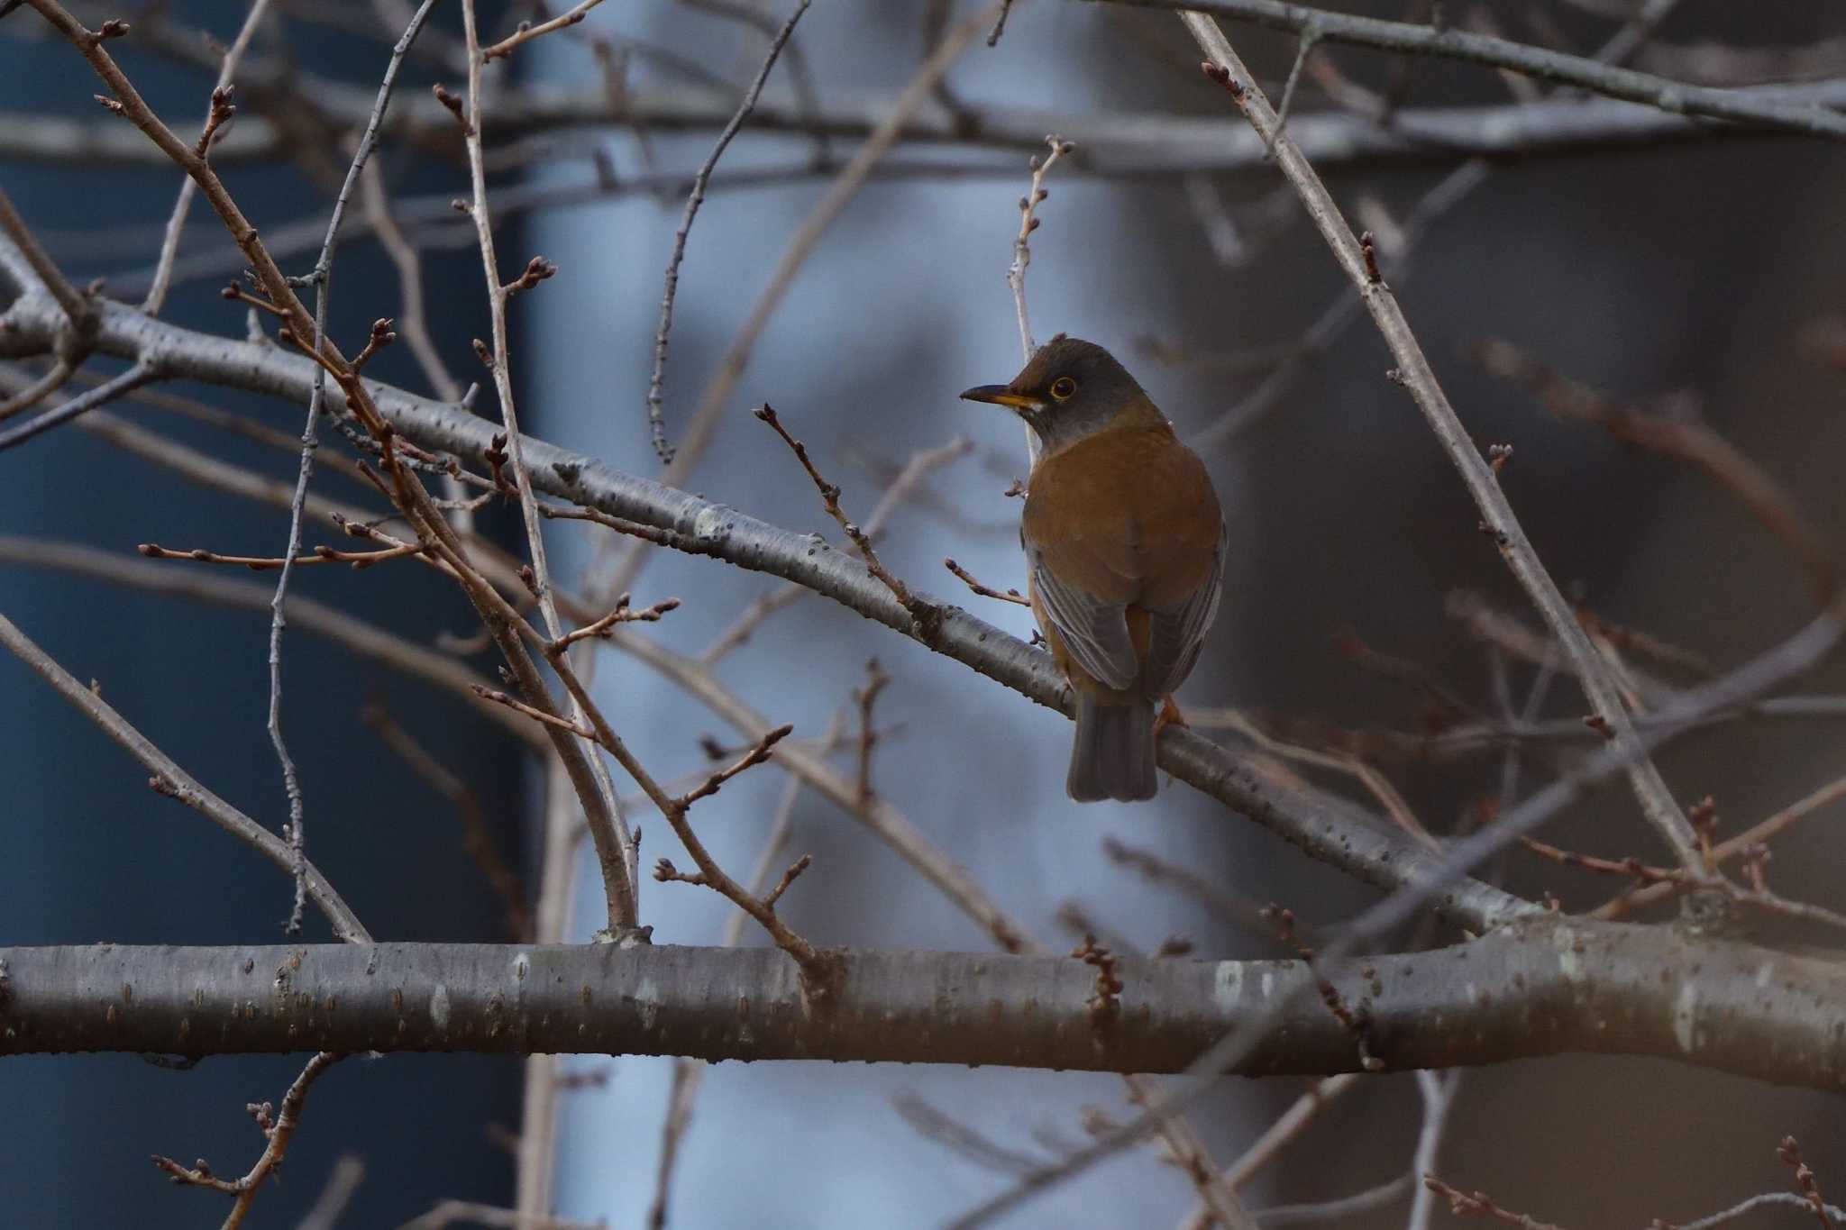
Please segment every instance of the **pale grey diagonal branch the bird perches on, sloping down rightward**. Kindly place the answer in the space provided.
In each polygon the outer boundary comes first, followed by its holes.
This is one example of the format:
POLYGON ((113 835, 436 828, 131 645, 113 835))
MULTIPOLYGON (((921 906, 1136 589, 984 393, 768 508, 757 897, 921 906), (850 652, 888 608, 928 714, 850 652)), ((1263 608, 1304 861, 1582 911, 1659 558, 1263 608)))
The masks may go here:
MULTIPOLYGON (((100 304, 96 349, 105 354, 157 352, 175 374, 207 384, 308 398, 314 369, 303 356, 266 343, 214 337, 151 319, 116 302, 100 304)), ((50 347, 61 317, 44 293, 22 297, 6 313, 0 356, 50 347)), ((452 452, 484 465, 495 448, 495 424, 460 408, 443 406, 402 389, 366 382, 378 413, 415 444, 452 452)), ((340 391, 329 389, 332 408, 340 391)), ((1069 712, 1063 677, 1050 656, 958 607, 916 594, 930 618, 917 620, 877 581, 866 564, 812 535, 797 535, 722 503, 674 487, 622 474, 609 465, 533 437, 522 437, 533 489, 594 507, 611 516, 665 531, 677 550, 709 555, 738 568, 797 581, 858 614, 895 629, 1015 692, 1069 712)), ((1270 782, 1248 760, 1204 736, 1170 727, 1159 745, 1159 763, 1180 780, 1292 841, 1311 857, 1377 885, 1396 889, 1432 872, 1438 857, 1359 806, 1307 787, 1270 782)), ((1538 907, 1475 880, 1462 880, 1431 902, 1451 922, 1484 931, 1538 907)))

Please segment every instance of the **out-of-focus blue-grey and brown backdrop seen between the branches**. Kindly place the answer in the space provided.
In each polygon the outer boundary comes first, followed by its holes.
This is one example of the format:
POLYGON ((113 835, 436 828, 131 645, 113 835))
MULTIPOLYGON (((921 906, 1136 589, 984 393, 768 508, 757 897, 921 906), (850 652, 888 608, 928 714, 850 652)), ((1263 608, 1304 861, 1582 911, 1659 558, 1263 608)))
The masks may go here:
MULTIPOLYGON (((821 0, 797 42, 829 96, 888 94, 923 50, 923 7, 821 0)), ((1394 6, 1372 7, 1396 15, 1394 6)), ((1575 46, 1593 46, 1610 30, 1564 4, 1543 9, 1575 46)), ((181 11, 225 39, 240 18, 236 6, 181 11)), ((768 11, 781 17, 781 6, 768 11)), ((94 87, 76 57, 9 30, 31 20, 22 13, 0 24, 0 35, 9 35, 0 39, 0 107, 89 114, 94 87)), ((452 11, 438 20, 456 28, 452 11)), ((1778 15, 1778 22, 1767 26, 1756 13, 1744 24, 1715 0, 1687 0, 1661 39, 1776 44, 1840 33, 1837 18, 1820 11, 1778 15)), ((759 37, 666 4, 604 6, 587 28, 681 50, 731 77, 748 76, 761 55, 759 37)), ((343 35, 299 20, 286 30, 305 65, 354 83, 382 68, 378 44, 356 53, 343 35)), ((1525 28, 1516 33, 1530 37, 1525 28)), ((1285 42, 1233 35, 1259 72, 1279 77, 1287 70, 1292 48, 1285 42)), ((594 89, 594 63, 580 46, 552 39, 530 52, 524 74, 594 89)), ((127 59, 157 107, 175 122, 196 122, 203 109, 196 77, 153 57, 127 59)), ((1384 77, 1381 61, 1361 52, 1337 59, 1362 79, 1384 77)), ((999 48, 977 44, 951 81, 982 101, 1073 114, 1218 112, 1222 98, 1198 87, 1193 61, 1170 17, 1032 0, 1019 6, 999 48)), ((639 85, 663 79, 635 61, 639 85)), ((414 72, 410 89, 425 81, 414 72)), ((1412 103, 1504 98, 1492 74, 1436 65, 1418 65, 1412 87, 1412 103)), ((788 98, 783 70, 770 96, 788 98)), ((1303 105, 1316 101, 1303 96, 1303 105)), ((594 144, 620 175, 653 164, 696 166, 709 142, 703 131, 652 133, 644 142, 617 133, 594 144)), ((801 138, 746 135, 725 166, 786 166, 807 149, 801 138)), ((587 181, 587 142, 563 142, 559 157, 532 173, 587 181)), ((1019 162, 999 159, 1023 170, 1019 162)), ((399 194, 463 192, 465 175, 454 164, 399 155, 391 166, 399 194)), ((1331 183, 1344 205, 1373 195, 1401 218, 1444 170, 1438 162, 1340 173, 1331 183)), ((1805 590, 1781 548, 1700 478, 1552 422, 1527 393, 1482 376, 1464 347, 1504 336, 1615 395, 1695 389, 1704 413, 1837 538, 1846 489, 1833 457, 1846 443, 1837 417, 1846 384, 1798 337, 1816 317, 1846 310, 1837 278, 1846 245, 1833 208, 1840 170, 1833 146, 1787 138, 1512 164, 1425 240, 1414 280, 1401 288, 1477 439, 1516 444, 1506 489, 1558 579, 1600 614, 1719 662, 1805 618, 1805 590)), ((0 175, 26 216, 55 232, 55 251, 79 277, 146 262, 151 243, 129 256, 105 254, 74 232, 164 219, 175 179, 170 171, 37 166, 0 166, 0 175)), ((679 286, 668 367, 674 430, 683 430, 823 183, 714 194, 707 203, 679 286)), ((1257 173, 1218 188, 1229 201, 1253 203, 1276 183, 1257 173)), ((231 184, 258 225, 321 208, 290 166, 240 168, 231 184)), ((1050 188, 1030 271, 1039 337, 1069 330, 1122 356, 1135 354, 1141 336, 1204 350, 1287 345, 1340 288, 1300 219, 1266 240, 1259 260, 1220 267, 1178 181, 1104 183, 1060 170, 1050 188)), ((956 588, 940 570, 943 555, 989 583, 1017 585, 1010 529, 1017 505, 1001 496, 1023 468, 1017 426, 958 404, 954 393, 1004 380, 1019 361, 1001 275, 1021 190, 1023 175, 1010 173, 947 184, 873 183, 860 192, 762 336, 718 446, 690 487, 783 526, 831 529, 792 457, 748 417, 762 400, 809 441, 858 514, 882 491, 884 467, 965 433, 980 457, 938 476, 930 498, 899 516, 886 561, 938 592, 956 588)), ((624 195, 541 214, 502 238, 508 271, 530 253, 563 267, 519 302, 513 363, 524 422, 637 472, 655 468, 642 395, 679 203, 677 195, 624 195)), ((467 249, 450 251, 430 262, 430 278, 434 326, 456 354, 456 371, 473 371, 465 343, 485 330, 480 269, 467 249)), ((395 304, 395 278, 378 249, 353 243, 336 284, 336 328, 356 339, 395 304)), ((214 282, 181 288, 168 313, 199 328, 242 328, 240 315, 216 299, 214 282)), ((1200 367, 1148 358, 1133 365, 1181 432, 1205 426, 1246 387, 1200 367)), ((1414 699, 1331 647, 1333 633, 1349 627, 1381 649, 1427 662, 1488 704, 1482 651, 1444 616, 1444 596, 1475 588, 1516 610, 1519 599, 1408 398, 1381 378, 1384 367, 1377 337, 1353 326, 1259 430, 1209 457, 1237 550, 1224 616, 1187 688, 1189 703, 1403 728, 1414 699)), ((421 387, 404 354, 386 354, 378 371, 421 387)), ((292 406, 190 391, 270 424, 299 426, 292 406)), ((179 430, 164 415, 161 424, 179 430)), ((286 457, 194 437, 271 472, 290 468, 286 457)), ((0 461, 0 478, 6 533, 113 550, 161 540, 251 553, 275 551, 282 538, 281 518, 150 476, 74 432, 11 454, 0 461)), ((502 537, 511 527, 506 514, 485 524, 502 537)), ((554 538, 567 575, 596 542, 569 529, 554 538)), ((310 570, 297 585, 423 640, 469 627, 452 592, 410 570, 356 577, 310 570)), ((659 559, 635 597, 687 599, 648 634, 696 653, 770 585, 711 561, 659 559)), ((74 673, 96 677, 113 703, 214 789, 255 815, 281 815, 262 730, 262 618, 15 568, 0 570, 0 609, 74 673)), ((1019 612, 982 605, 982 614, 1025 633, 1019 612)), ((1058 789, 1067 747, 1061 719, 823 601, 775 618, 720 675, 773 719, 820 734, 873 655, 893 677, 881 714, 901 725, 879 758, 879 789, 1052 942, 1071 939, 1054 915, 1076 900, 1143 946, 1181 931, 1205 955, 1272 953, 1113 870, 1098 850, 1106 835, 1161 850, 1231 891, 1281 900, 1311 920, 1338 918, 1368 900, 1183 787, 1145 808, 1073 808, 1058 789)), ((380 937, 497 937, 498 911, 460 852, 449 810, 375 747, 356 714, 369 690, 384 688, 419 738, 447 763, 465 767, 502 824, 504 848, 517 854, 530 797, 513 749, 450 699, 380 677, 305 634, 290 638, 286 662, 295 680, 288 730, 305 775, 316 859, 380 937)), ((1527 679, 1516 671, 1516 688, 1527 679)), ((696 769, 701 734, 729 736, 716 717, 631 662, 607 658, 598 686, 611 719, 661 773, 696 769)), ((1826 679, 1813 686, 1824 688, 1826 679)), ((1560 686, 1552 712, 1573 716, 1575 706, 1560 686)), ((198 817, 150 797, 137 767, 11 662, 0 662, 0 747, 7 837, 0 935, 9 942, 277 935, 282 880, 198 817)), ((1833 728, 1748 727, 1689 739, 1663 767, 1682 798, 1717 793, 1733 832, 1837 776, 1842 762, 1833 728)), ((1492 787, 1497 763, 1388 771, 1429 824, 1447 828, 1492 787)), ((775 775, 757 773, 701 804, 701 832, 720 859, 748 865, 779 789, 775 775)), ((652 859, 668 839, 657 821, 646 828, 652 859)), ((1604 854, 1628 854, 1647 841, 1632 802, 1617 791, 1562 824, 1558 839, 1604 854)), ((816 865, 785 909, 818 942, 984 946, 831 806, 797 806, 794 846, 812 850, 816 865)), ((1835 846, 1818 822, 1794 834, 1772 865, 1778 887, 1829 900, 1826 865, 1835 846)), ((1552 885, 1584 902, 1599 889, 1549 867, 1516 863, 1514 876, 1525 891, 1552 885)), ((594 926, 593 891, 593 876, 580 880, 574 939, 594 926)), ((683 885, 650 881, 642 902, 657 939, 670 942, 711 942, 724 917, 714 896, 683 885)), ((240 1105, 279 1095, 295 1068, 295 1060, 218 1059, 170 1073, 126 1057, 9 1060, 0 1066, 0 1099, 9 1108, 0 1118, 0 1191, 24 1224, 201 1224, 218 1212, 209 1197, 166 1189, 144 1154, 240 1167, 255 1153, 240 1105)), ((570 1068, 602 1064, 572 1060, 570 1068)), ((316 1090, 286 1184, 262 1197, 258 1224, 292 1224, 343 1151, 367 1162, 349 1224, 395 1224, 449 1195, 506 1202, 511 1167, 487 1125, 517 1125, 517 1079, 515 1062, 465 1057, 391 1057, 336 1070, 316 1090)), ((620 1060, 605 1086, 567 1095, 561 1212, 611 1224, 641 1221, 665 1088, 665 1060, 620 1060)), ((1226 1082, 1200 1114, 1218 1158, 1233 1156, 1300 1088, 1300 1081, 1226 1082)), ((925 1226, 1004 1182, 921 1141, 890 1108, 897 1092, 919 1092, 1019 1147, 1032 1147, 1034 1132, 1080 1138, 1085 1105, 1128 1114, 1121 1086, 1100 1077, 727 1064, 707 1073, 679 1164, 674 1224, 925 1226)), ((1643 1224, 1781 1186, 1772 1145, 1783 1132, 1804 1136, 1804 1153, 1822 1175, 1829 1162, 1846 1173, 1846 1141, 1829 1125, 1837 1127, 1833 1101, 1663 1062, 1514 1064, 1469 1075, 1444 1165, 1462 1186, 1490 1189, 1549 1221, 1643 1224)), ((1257 1202, 1325 1199, 1381 1182, 1407 1165, 1414 1130, 1414 1086, 1377 1081, 1316 1123, 1257 1202)), ((1172 1224, 1189 1202, 1183 1178, 1141 1154, 1054 1193, 1010 1224, 1172 1224)), ((1397 1208, 1362 1224, 1401 1219, 1397 1208)))

